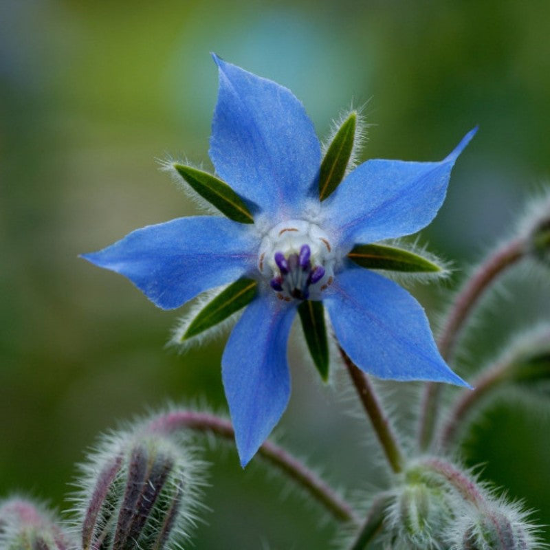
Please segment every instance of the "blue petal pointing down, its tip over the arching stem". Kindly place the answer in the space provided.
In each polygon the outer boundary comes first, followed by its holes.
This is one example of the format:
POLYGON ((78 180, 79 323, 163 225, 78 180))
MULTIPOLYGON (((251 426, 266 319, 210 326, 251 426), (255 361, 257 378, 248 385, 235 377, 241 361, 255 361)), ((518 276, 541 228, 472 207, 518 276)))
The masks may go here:
POLYGON ((245 309, 223 352, 223 386, 243 467, 287 408, 287 340, 295 314, 296 307, 259 296, 245 309))

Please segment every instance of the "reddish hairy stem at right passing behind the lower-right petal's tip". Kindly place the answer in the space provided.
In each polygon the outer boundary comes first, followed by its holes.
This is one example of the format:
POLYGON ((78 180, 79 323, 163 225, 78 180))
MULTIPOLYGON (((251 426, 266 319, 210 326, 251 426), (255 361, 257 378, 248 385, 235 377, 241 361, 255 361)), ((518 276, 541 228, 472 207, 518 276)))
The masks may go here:
MULTIPOLYGON (((456 300, 454 300, 454 305, 445 321, 445 325, 443 325, 443 331, 437 342, 439 352, 445 361, 449 361, 452 357, 456 341, 465 324, 465 320, 474 309, 474 305, 476 305, 478 299, 483 295, 483 292, 507 267, 514 265, 514 263, 522 259, 525 256, 525 251, 525 239, 518 238, 505 243, 494 254, 489 256, 478 267, 472 277, 466 281, 463 289, 456 296, 456 300)), ((426 384, 422 399, 418 432, 420 450, 428 449, 432 442, 437 409, 441 400, 441 387, 442 384, 436 382, 426 384)))

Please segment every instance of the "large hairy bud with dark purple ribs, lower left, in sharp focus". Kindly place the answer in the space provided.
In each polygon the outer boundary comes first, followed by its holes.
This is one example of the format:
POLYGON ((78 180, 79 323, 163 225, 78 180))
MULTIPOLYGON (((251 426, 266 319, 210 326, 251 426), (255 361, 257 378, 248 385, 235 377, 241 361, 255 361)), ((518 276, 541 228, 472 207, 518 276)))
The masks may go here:
POLYGON ((197 463, 181 443, 148 431, 114 434, 83 470, 83 550, 179 548, 200 485, 197 463))

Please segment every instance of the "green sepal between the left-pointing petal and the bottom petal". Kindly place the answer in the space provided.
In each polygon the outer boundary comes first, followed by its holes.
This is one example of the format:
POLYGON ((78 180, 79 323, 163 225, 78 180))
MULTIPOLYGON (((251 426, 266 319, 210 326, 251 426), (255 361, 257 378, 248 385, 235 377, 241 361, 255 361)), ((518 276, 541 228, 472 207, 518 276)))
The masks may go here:
POLYGON ((235 311, 248 305, 252 298, 256 296, 256 287, 258 283, 254 279, 240 278, 229 285, 223 292, 218 294, 209 302, 195 319, 192 320, 181 341, 187 340, 192 336, 197 336, 203 331, 214 327, 218 323, 227 319, 235 311))

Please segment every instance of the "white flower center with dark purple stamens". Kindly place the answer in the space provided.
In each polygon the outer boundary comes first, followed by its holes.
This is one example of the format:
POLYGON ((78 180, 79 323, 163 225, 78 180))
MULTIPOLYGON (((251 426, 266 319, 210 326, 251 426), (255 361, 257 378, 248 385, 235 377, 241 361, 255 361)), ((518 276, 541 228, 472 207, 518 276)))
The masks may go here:
POLYGON ((333 281, 335 254, 329 236, 315 223, 278 223, 263 238, 258 269, 278 298, 320 300, 333 281))

